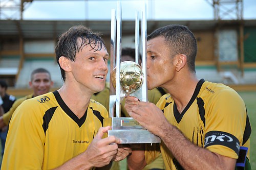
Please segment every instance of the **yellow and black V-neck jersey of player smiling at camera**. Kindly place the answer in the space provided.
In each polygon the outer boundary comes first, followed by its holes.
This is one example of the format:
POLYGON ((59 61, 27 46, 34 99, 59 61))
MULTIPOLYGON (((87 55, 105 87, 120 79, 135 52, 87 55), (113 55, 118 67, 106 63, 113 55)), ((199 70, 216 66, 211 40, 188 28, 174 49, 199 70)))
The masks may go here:
POLYGON ((26 100, 11 118, 2 169, 56 168, 87 150, 106 117, 91 100, 79 119, 57 91, 26 100))

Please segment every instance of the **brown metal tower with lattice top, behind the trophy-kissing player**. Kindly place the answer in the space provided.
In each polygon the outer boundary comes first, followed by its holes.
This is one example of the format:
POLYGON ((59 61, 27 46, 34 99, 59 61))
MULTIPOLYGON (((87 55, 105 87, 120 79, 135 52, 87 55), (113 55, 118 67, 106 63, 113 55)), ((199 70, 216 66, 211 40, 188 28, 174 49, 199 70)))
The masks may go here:
POLYGON ((236 65, 244 76, 244 23, 243 23, 243 0, 206 0, 214 8, 214 19, 218 21, 216 25, 215 57, 218 71, 222 65, 236 65), (230 20, 231 22, 226 22, 230 20), (220 60, 220 32, 225 28, 237 30, 237 61, 220 60))

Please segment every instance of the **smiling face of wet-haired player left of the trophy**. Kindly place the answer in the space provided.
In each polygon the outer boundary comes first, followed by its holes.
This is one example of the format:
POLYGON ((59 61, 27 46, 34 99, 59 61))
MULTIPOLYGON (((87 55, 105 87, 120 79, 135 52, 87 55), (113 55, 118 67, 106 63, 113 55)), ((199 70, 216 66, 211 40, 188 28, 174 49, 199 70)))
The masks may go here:
POLYGON ((89 44, 83 46, 76 53, 75 61, 68 61, 73 81, 91 93, 102 91, 108 73, 108 59, 109 54, 104 47, 95 51, 89 44))

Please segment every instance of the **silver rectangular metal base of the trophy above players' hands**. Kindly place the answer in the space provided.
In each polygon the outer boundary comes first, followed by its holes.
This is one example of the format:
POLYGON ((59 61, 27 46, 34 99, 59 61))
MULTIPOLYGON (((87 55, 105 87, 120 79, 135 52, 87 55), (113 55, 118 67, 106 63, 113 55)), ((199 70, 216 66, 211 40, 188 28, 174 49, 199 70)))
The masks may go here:
POLYGON ((143 128, 132 117, 112 117, 104 119, 104 124, 112 125, 109 136, 115 136, 121 143, 160 143, 160 137, 143 128))

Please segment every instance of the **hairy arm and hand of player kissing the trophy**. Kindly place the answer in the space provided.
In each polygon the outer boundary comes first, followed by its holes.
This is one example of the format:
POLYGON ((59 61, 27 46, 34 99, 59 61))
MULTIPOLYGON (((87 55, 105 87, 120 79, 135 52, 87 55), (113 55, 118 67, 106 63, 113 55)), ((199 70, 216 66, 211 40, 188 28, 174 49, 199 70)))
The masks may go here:
POLYGON ((170 125, 163 112, 154 104, 139 102, 138 99, 128 96, 125 108, 143 127, 161 137, 185 169, 234 169, 236 159, 197 147, 176 127, 170 125))

